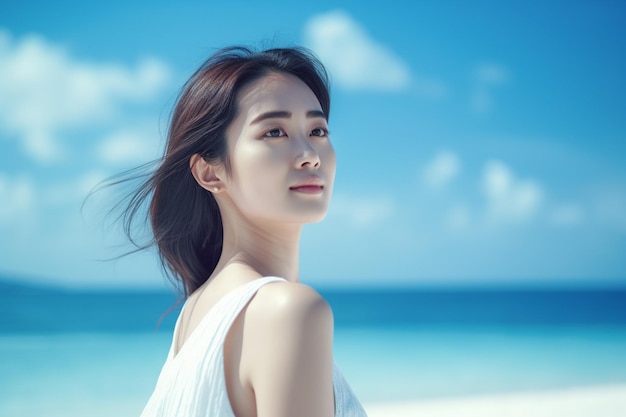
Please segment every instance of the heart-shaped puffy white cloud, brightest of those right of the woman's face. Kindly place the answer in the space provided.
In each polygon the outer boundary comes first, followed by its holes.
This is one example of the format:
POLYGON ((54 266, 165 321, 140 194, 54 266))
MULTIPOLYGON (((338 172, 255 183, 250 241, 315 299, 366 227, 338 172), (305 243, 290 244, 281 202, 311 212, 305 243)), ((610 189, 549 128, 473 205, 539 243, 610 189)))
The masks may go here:
POLYGON ((543 201, 543 190, 534 181, 518 180, 500 161, 490 161, 483 173, 483 190, 487 196, 488 220, 522 222, 533 217, 543 201))

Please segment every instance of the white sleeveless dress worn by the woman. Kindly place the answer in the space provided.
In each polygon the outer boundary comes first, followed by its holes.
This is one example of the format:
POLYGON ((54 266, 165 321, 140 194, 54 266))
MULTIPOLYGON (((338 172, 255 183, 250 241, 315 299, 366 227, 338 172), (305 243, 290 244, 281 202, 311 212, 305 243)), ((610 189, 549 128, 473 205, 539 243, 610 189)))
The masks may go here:
MULTIPOLYGON (((167 360, 141 417, 235 417, 226 390, 224 341, 233 322, 259 288, 276 281, 285 280, 259 278, 225 295, 202 318, 175 355, 181 312, 167 360)), ((367 417, 335 364, 333 386, 335 417, 367 417)))

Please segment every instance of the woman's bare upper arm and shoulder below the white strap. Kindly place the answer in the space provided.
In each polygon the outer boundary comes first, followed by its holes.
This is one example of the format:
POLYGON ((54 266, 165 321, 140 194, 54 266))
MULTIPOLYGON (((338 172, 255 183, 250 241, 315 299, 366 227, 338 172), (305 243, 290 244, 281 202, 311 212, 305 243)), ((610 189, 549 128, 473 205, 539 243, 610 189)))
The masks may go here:
POLYGON ((245 314, 242 370, 257 417, 332 417, 333 315, 312 288, 261 288, 245 314))

